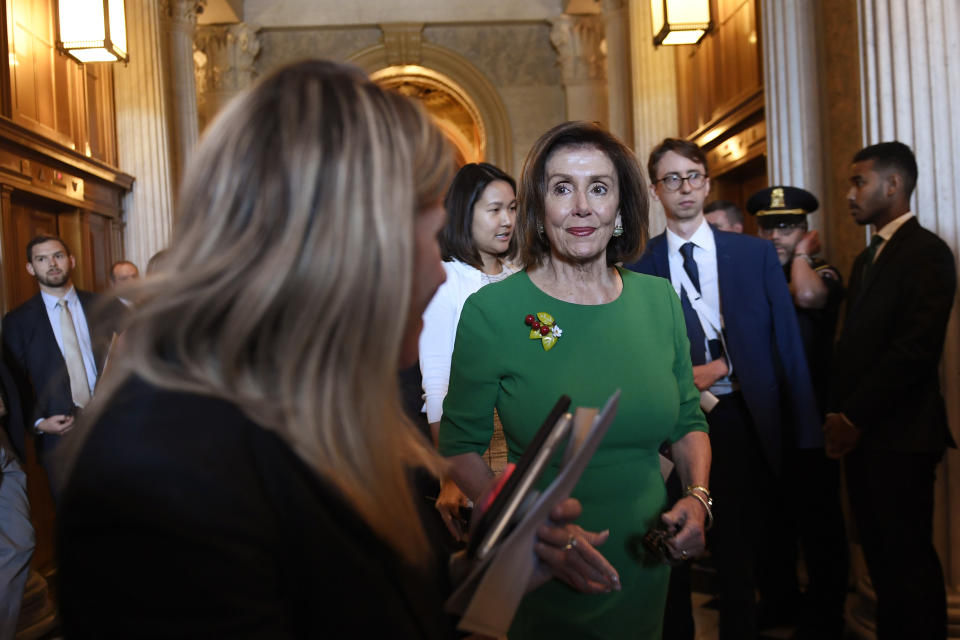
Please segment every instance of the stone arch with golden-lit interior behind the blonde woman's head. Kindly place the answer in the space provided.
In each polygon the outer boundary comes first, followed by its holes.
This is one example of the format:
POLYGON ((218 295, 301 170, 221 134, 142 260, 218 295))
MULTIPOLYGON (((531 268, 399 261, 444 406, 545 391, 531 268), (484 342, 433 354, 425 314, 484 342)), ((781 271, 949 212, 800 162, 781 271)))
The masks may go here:
POLYGON ((379 84, 423 100, 463 161, 490 162, 512 174, 510 120, 487 77, 459 54, 423 42, 423 25, 380 27, 383 43, 358 51, 347 61, 379 84))

